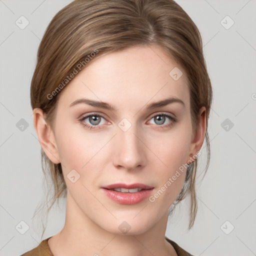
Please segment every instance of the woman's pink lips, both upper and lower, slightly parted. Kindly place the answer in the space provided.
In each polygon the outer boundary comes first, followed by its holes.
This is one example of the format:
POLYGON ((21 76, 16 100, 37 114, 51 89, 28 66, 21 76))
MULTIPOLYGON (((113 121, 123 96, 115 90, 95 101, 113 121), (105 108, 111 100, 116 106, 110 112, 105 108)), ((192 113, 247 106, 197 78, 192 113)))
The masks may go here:
POLYGON ((103 192, 113 201, 120 203, 120 204, 136 204, 147 197, 151 194, 153 187, 148 186, 145 184, 141 183, 134 183, 134 184, 123 184, 123 183, 116 183, 116 184, 111 184, 105 187, 101 187, 103 192), (134 193, 130 192, 118 192, 114 190, 110 190, 112 188, 118 188, 118 187, 123 187, 123 188, 141 188, 143 190, 137 191, 134 193))

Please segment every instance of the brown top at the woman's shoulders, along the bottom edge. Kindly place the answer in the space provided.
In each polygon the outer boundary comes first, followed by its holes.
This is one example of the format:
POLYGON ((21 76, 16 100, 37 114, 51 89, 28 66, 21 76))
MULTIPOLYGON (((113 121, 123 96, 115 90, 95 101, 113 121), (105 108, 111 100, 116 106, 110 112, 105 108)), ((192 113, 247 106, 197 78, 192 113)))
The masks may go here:
MULTIPOLYGON (((21 256, 53 256, 48 245, 48 239, 50 237, 42 240, 37 247, 23 253, 21 256)), ((166 236, 165 239, 173 246, 178 256, 192 256, 190 253, 183 250, 174 241, 170 240, 166 236)))

